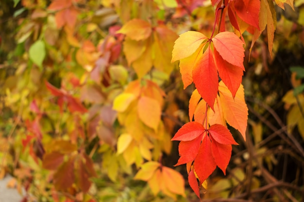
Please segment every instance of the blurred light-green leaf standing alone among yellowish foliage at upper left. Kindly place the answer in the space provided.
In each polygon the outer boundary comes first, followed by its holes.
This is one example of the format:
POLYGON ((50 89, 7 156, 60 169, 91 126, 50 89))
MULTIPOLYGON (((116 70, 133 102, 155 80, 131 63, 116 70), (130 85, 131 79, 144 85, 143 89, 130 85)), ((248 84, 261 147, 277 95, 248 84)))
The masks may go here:
POLYGON ((43 41, 39 40, 36 41, 29 50, 30 59, 37 64, 39 67, 42 68, 42 62, 45 58, 46 51, 45 51, 45 44, 43 41))

